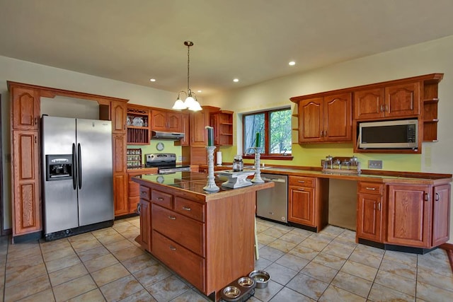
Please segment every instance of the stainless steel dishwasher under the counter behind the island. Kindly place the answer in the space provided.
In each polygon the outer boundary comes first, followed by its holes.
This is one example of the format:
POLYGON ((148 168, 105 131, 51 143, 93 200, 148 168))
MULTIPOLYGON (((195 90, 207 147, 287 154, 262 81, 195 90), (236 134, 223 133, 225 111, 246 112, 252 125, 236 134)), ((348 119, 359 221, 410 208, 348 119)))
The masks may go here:
POLYGON ((261 173, 261 178, 275 185, 256 192, 256 216, 287 223, 288 176, 261 173))

